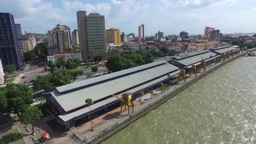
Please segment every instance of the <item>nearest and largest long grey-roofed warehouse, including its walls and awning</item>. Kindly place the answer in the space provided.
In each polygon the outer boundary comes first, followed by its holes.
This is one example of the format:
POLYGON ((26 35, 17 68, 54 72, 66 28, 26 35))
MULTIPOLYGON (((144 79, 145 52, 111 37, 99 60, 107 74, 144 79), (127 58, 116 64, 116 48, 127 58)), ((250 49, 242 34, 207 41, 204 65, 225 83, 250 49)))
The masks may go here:
POLYGON ((67 128, 74 128, 74 122, 88 116, 90 112, 100 115, 102 110, 107 111, 118 104, 119 100, 113 94, 130 92, 134 96, 167 81, 168 74, 171 77, 179 74, 179 68, 167 61, 157 61, 57 87, 47 96, 46 101, 51 105, 59 122, 67 128), (91 111, 85 104, 85 99, 88 98, 94 102, 91 111))

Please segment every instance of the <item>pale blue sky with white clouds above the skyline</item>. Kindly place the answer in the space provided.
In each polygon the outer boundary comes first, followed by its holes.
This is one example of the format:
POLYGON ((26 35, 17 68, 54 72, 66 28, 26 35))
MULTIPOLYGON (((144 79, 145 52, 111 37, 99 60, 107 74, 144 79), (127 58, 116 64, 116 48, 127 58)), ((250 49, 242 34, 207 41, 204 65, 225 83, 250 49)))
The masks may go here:
POLYGON ((105 16, 106 29, 138 35, 145 24, 145 35, 158 31, 165 35, 181 31, 204 34, 215 27, 223 34, 256 32, 256 0, 0 0, 0 12, 11 13, 22 33, 46 34, 56 24, 77 29, 77 11, 105 16))

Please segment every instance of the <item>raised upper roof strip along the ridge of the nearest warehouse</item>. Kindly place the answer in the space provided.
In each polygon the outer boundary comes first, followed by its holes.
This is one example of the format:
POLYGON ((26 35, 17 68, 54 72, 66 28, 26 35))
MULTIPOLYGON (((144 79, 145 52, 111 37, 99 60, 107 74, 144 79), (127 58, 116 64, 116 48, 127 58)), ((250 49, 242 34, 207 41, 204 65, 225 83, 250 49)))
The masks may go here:
POLYGON ((88 80, 83 80, 83 81, 80 81, 80 82, 77 82, 77 83, 71 83, 71 84, 68 84, 68 85, 63 85, 63 86, 57 87, 56 90, 59 93, 63 93, 65 91, 70 91, 70 90, 74 90, 76 88, 86 87, 87 85, 91 85, 91 84, 94 84, 94 83, 99 83, 99 82, 102 82, 104 80, 109 80, 111 78, 119 77, 119 76, 122 76, 122 75, 127 75, 129 73, 136 72, 136 71, 139 71, 139 70, 147 69, 147 68, 150 68, 150 67, 155 67, 157 65, 164 64, 165 62, 166 61, 162 60, 162 61, 157 61, 157 62, 153 62, 153 63, 150 63, 150 64, 144 64, 144 65, 141 65, 139 67, 133 67, 131 69, 125 69, 125 70, 122 70, 122 71, 119 71, 119 72, 114 72, 114 73, 111 73, 111 74, 108 74, 108 75, 103 75, 101 77, 94 77, 94 78, 91 78, 91 79, 88 79, 88 80))

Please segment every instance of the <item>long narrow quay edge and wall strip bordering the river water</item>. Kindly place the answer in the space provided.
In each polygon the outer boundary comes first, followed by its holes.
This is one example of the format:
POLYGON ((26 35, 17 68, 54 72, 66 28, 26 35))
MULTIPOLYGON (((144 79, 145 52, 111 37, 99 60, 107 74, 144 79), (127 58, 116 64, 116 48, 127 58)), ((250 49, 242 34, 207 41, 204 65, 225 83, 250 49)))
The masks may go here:
MULTIPOLYGON (((219 69, 220 67, 224 66, 225 64, 228 64, 230 61, 234 61, 235 59, 245 56, 248 52, 245 52, 243 54, 236 55, 233 58, 226 59, 226 61, 222 61, 219 63, 215 63, 213 66, 208 67, 206 72, 200 72, 198 73, 197 77, 188 77, 187 78, 187 83, 178 83, 176 84, 176 87, 174 88, 174 85, 170 87, 167 91, 163 92, 160 94, 158 99, 155 99, 151 102, 145 102, 143 104, 143 107, 140 109, 136 110, 135 112, 131 113, 130 115, 127 115, 124 117, 122 120, 117 121, 115 125, 110 125, 109 127, 105 128, 103 131, 99 131, 95 135, 89 137, 86 141, 82 141, 82 143, 89 144, 98 144, 101 143, 102 141, 108 139, 111 137, 113 134, 117 133, 118 131, 122 130, 126 126, 130 125, 133 123, 135 120, 139 119, 140 117, 146 115, 148 112, 151 110, 159 107, 161 104, 165 103, 169 99, 173 98, 176 96, 178 93, 181 91, 184 91, 186 88, 188 88, 190 85, 196 83, 198 80, 201 78, 205 77, 206 75, 210 74, 216 69, 219 69)), ((86 133, 86 132, 85 132, 86 133)))

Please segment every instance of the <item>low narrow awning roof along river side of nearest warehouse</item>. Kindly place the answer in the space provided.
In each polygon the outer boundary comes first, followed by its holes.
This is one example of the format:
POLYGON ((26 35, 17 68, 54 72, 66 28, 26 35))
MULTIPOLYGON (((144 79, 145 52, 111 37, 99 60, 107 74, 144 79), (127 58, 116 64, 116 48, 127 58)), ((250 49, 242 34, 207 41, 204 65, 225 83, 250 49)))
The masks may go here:
MULTIPOLYGON (((174 76, 174 75, 178 75, 179 73, 180 73, 180 71, 178 70, 178 71, 175 71, 175 72, 171 73, 170 75, 171 75, 171 77, 172 77, 172 76, 174 76)), ((146 84, 144 84, 144 85, 140 85, 139 87, 133 88, 133 89, 131 89, 131 90, 129 90, 129 91, 125 91, 125 92, 123 92, 123 93, 126 93, 126 92, 134 93, 134 92, 136 92, 136 91, 140 91, 140 90, 143 89, 143 88, 147 88, 148 86, 153 85, 153 84, 155 84, 155 83, 157 83, 157 82, 160 82, 160 81, 162 81, 162 80, 165 80, 165 79, 167 79, 167 78, 168 78, 168 76, 165 75, 165 76, 163 76, 163 77, 160 77, 160 78, 158 78, 158 79, 156 79, 156 80, 153 80, 153 81, 151 81, 151 82, 149 82, 149 83, 146 83, 146 84)), ((121 93, 121 94, 123 94, 123 93, 121 93)), ((104 100, 104 101, 100 101, 100 102, 98 102, 98 103, 96 103, 96 104, 91 105, 91 110, 96 109, 96 108, 98 108, 98 107, 102 107, 102 106, 104 106, 105 104, 108 104, 108 103, 110 103, 110 102, 112 102, 112 101, 115 101, 115 100, 117 100, 117 98, 115 98, 115 97, 110 97, 110 98, 108 98, 108 99, 106 99, 106 100, 104 100)), ((68 113, 68 114, 59 115, 59 118, 61 118, 61 120, 63 120, 63 121, 68 121, 68 120, 70 120, 70 119, 72 119, 72 118, 74 118, 74 117, 77 117, 77 116, 79 116, 79 115, 83 115, 83 114, 85 114, 86 112, 89 112, 89 107, 85 107, 85 108, 79 109, 79 110, 77 110, 77 111, 75 111, 75 112, 68 113)))

